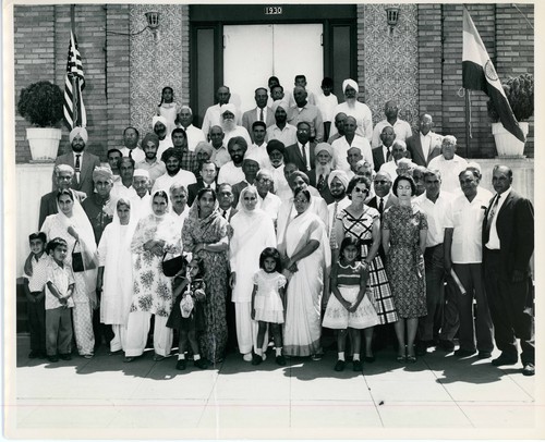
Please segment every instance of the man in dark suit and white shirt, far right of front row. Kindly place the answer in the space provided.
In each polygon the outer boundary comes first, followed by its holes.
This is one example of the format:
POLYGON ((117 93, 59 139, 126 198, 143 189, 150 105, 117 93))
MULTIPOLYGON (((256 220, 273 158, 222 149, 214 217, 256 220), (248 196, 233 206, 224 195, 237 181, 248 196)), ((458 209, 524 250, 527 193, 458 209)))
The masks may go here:
POLYGON ((532 202, 511 188, 512 171, 496 165, 492 184, 497 194, 483 220, 483 263, 494 339, 501 355, 496 367, 517 364, 517 337, 522 375, 535 373, 533 290, 530 260, 534 250, 532 202))

